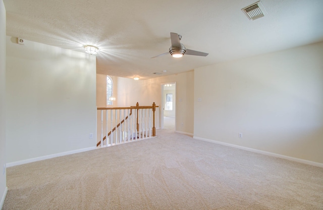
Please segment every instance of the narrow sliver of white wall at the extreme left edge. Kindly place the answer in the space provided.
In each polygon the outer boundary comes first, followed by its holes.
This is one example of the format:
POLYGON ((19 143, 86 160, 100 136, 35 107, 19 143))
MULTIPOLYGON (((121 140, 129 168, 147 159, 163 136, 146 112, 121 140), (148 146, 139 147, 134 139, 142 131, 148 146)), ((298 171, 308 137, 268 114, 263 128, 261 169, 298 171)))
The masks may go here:
POLYGON ((0 208, 6 196, 6 9, 0 1, 0 208))

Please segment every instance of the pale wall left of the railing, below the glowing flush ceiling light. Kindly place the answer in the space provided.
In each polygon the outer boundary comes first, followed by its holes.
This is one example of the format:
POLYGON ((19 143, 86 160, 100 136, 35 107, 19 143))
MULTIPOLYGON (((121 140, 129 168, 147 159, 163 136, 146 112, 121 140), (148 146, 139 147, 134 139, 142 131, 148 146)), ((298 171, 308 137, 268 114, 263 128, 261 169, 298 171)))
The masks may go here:
POLYGON ((94 56, 7 36, 7 163, 95 146, 94 56))

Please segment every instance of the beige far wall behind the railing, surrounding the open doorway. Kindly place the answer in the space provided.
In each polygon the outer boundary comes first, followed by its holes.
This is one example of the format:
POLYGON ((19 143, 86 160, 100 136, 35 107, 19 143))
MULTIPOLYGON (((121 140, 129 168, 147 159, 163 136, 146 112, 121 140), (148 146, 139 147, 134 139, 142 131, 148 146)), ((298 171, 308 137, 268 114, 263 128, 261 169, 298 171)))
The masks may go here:
MULTIPOLYGON (((105 77, 105 75, 98 75, 105 77)), ((103 80, 102 80, 103 81, 103 80)), ((159 128, 160 109, 161 109, 161 84, 176 82, 176 130, 179 132, 193 134, 194 127, 194 72, 185 72, 170 76, 157 77, 148 80, 134 81, 129 78, 114 78, 114 88, 117 91, 117 106, 129 107, 135 106, 139 102, 141 106, 150 106, 155 102, 159 106, 156 112, 156 128, 159 128), (117 85, 116 85, 117 84, 117 85), (179 101, 181 100, 181 101, 179 101), (184 123, 182 126, 181 123, 184 123)), ((105 83, 97 83, 105 85, 105 83)), ((100 89, 100 87, 97 87, 100 89)), ((104 93, 98 93, 98 97, 104 97, 104 93)), ((101 99, 98 99, 101 100, 101 99)))

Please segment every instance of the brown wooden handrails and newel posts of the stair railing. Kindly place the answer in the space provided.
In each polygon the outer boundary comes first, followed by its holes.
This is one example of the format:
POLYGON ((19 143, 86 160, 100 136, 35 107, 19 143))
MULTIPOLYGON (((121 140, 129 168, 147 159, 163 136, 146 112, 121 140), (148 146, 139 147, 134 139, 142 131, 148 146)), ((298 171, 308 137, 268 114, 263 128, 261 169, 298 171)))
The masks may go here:
MULTIPOLYGON (((155 102, 152 103, 152 106, 139 106, 139 103, 137 102, 136 103, 136 106, 130 106, 129 107, 100 107, 100 108, 97 108, 97 110, 129 110, 130 109, 130 115, 132 115, 132 110, 133 109, 136 109, 137 110, 137 131, 139 131, 139 123, 138 123, 138 112, 139 112, 139 109, 152 109, 152 113, 153 113, 153 127, 152 127, 152 136, 156 136, 156 128, 155 128, 155 110, 156 110, 156 104, 155 102)), ((125 120, 128 119, 127 116, 124 120, 122 120, 116 127, 114 127, 112 129, 112 131, 110 131, 108 134, 107 134, 107 137, 109 137, 111 135, 112 132, 114 132, 117 128, 120 127, 121 124, 123 124, 125 122, 125 120)), ((104 136, 102 138, 102 142, 106 139, 106 136, 104 136)), ((96 146, 99 146, 101 144, 101 141, 97 142, 96 146)))

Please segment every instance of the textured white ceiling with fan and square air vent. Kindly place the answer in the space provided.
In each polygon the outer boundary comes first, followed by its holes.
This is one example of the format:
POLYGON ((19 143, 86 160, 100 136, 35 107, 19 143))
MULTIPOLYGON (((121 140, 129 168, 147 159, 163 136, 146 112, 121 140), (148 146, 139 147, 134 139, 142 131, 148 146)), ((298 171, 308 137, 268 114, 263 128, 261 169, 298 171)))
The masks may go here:
POLYGON ((250 21, 257 0, 4 0, 7 35, 84 51, 100 48, 97 73, 148 79, 218 62, 323 41, 322 0, 262 0, 267 15, 250 21), (170 32, 207 57, 170 55, 170 32), (163 73, 163 70, 167 72, 163 73), (163 73, 155 75, 153 72, 163 73))

